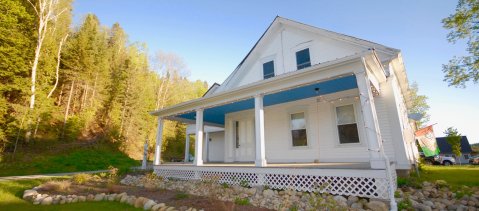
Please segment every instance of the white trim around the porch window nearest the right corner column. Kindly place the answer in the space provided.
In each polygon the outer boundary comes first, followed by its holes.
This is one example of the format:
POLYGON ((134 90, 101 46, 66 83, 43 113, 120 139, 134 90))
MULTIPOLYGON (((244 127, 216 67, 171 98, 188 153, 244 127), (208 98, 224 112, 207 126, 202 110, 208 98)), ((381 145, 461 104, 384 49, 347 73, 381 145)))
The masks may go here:
POLYGON ((335 141, 335 147, 336 148, 348 148, 348 147, 363 147, 364 146, 364 141, 363 141, 363 129, 361 127, 362 125, 362 118, 360 117, 360 109, 358 109, 358 106, 356 101, 354 100, 343 100, 342 102, 339 103, 332 103, 331 104, 331 113, 333 115, 333 128, 334 128, 334 137, 336 139, 335 141), (346 106, 346 105, 353 105, 354 109, 354 118, 356 119, 356 126, 358 127, 358 136, 359 136, 359 142, 358 143, 344 143, 342 144, 339 141, 339 131, 338 131, 338 114, 336 113, 336 108, 341 107, 341 106, 346 106))

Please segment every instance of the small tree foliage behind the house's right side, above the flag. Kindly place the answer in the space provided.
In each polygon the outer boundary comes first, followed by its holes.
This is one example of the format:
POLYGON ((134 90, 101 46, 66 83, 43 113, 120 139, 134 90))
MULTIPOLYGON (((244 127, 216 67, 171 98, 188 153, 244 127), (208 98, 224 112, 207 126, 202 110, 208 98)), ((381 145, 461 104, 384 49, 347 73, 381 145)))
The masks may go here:
POLYGON ((418 85, 416 82, 413 82, 409 87, 409 99, 411 106, 408 108, 408 113, 419 113, 422 115, 422 119, 416 122, 418 128, 421 128, 426 122, 429 121, 430 116, 427 113, 429 111, 429 105, 427 104, 428 97, 426 95, 420 95, 418 92, 418 85))

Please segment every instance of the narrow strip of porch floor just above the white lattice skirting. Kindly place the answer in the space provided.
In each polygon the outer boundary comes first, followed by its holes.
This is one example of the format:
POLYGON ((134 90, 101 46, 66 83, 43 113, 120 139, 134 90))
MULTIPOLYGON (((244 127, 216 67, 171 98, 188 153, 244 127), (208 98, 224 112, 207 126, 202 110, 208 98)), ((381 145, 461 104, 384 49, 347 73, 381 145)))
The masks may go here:
MULTIPOLYGON (((193 166, 193 163, 168 162, 162 163, 165 166, 193 166)), ((252 162, 245 163, 204 163, 205 167, 256 167, 252 162)), ((308 169, 371 169, 371 165, 366 162, 329 162, 329 163, 268 163, 263 168, 308 168, 308 169)))

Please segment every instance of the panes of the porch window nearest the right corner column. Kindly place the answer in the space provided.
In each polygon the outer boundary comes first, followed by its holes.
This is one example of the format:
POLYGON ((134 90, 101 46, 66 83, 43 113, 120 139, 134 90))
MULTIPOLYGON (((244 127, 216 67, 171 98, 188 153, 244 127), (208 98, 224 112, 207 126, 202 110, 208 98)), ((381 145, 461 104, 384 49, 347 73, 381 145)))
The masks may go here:
POLYGON ((345 105, 336 107, 336 120, 338 127, 339 143, 359 143, 358 124, 354 114, 354 106, 345 105))

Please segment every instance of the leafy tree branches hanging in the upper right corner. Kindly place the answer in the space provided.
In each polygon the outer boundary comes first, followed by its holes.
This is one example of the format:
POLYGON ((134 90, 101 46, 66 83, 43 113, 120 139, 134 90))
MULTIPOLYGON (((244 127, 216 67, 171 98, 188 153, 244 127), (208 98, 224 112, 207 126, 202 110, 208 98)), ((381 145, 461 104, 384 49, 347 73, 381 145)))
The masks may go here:
POLYGON ((467 40, 467 56, 454 57, 443 65, 444 81, 449 86, 466 87, 466 82, 479 81, 479 1, 459 0, 456 11, 442 20, 443 26, 451 30, 449 42, 467 40))

